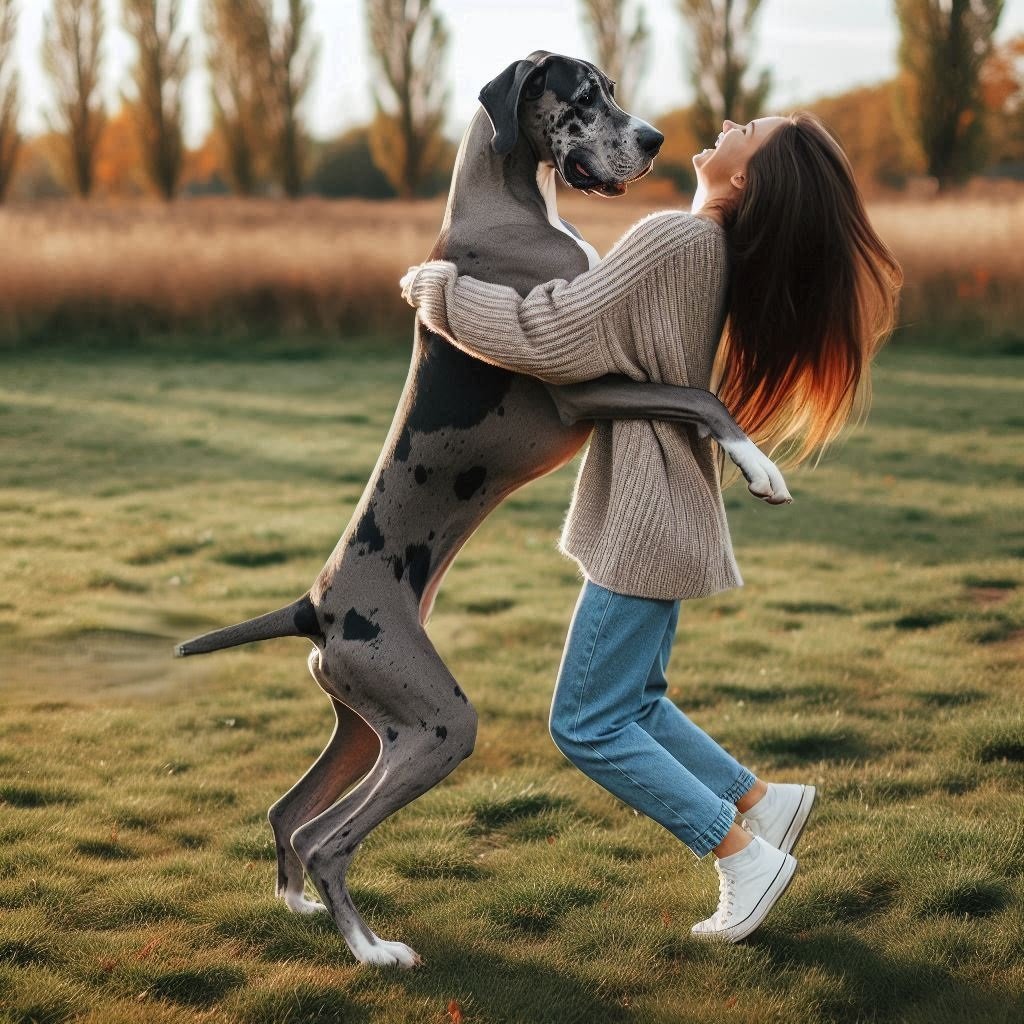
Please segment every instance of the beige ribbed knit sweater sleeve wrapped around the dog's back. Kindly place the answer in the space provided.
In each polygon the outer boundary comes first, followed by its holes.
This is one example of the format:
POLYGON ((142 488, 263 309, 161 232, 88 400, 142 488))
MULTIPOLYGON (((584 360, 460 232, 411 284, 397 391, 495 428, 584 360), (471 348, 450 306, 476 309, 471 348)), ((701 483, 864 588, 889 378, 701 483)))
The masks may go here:
POLYGON ((408 291, 431 330, 507 370, 552 384, 629 373, 644 347, 631 337, 643 321, 629 315, 637 286, 709 229, 721 230, 688 213, 651 214, 592 270, 571 282, 549 281, 525 297, 504 285, 459 276, 456 265, 444 261, 424 263, 408 291))

